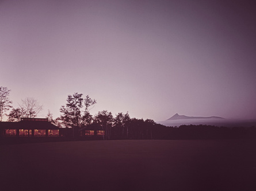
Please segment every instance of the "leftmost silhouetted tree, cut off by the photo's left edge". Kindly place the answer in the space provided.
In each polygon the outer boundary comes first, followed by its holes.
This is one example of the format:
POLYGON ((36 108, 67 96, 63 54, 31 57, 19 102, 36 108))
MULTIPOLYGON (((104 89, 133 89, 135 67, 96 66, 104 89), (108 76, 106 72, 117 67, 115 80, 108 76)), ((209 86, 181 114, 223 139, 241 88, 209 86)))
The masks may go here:
POLYGON ((12 101, 9 99, 10 89, 7 87, 0 87, 0 122, 3 119, 3 115, 8 111, 12 106, 12 101))

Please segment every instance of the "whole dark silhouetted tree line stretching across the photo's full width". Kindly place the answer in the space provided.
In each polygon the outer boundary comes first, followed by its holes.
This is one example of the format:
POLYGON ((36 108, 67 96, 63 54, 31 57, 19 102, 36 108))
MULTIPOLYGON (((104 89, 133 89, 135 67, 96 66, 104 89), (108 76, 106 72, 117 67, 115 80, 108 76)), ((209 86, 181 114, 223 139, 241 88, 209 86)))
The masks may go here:
MULTIPOLYGON (((36 99, 26 98, 19 107, 13 108, 9 99, 10 90, 0 87, 0 120, 3 115, 8 121, 17 122, 20 118, 35 118, 43 109, 36 99), (8 110, 12 109, 9 114, 8 110)), ((127 113, 120 112, 113 116, 107 110, 99 111, 94 116, 90 109, 97 103, 89 95, 83 97, 82 93, 68 95, 67 103, 60 107, 61 115, 53 119, 48 111, 49 122, 58 127, 104 130, 105 139, 232 139, 256 138, 256 128, 244 127, 216 127, 208 125, 182 125, 179 127, 166 127, 155 123, 152 119, 131 118, 127 113)))

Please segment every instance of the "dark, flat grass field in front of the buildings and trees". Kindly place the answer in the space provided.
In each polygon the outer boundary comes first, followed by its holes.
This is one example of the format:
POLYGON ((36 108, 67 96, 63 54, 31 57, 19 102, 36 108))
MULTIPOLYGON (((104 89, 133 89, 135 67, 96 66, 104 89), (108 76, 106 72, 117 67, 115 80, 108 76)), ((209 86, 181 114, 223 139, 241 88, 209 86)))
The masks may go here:
POLYGON ((0 145, 0 190, 256 190, 255 140, 0 145))

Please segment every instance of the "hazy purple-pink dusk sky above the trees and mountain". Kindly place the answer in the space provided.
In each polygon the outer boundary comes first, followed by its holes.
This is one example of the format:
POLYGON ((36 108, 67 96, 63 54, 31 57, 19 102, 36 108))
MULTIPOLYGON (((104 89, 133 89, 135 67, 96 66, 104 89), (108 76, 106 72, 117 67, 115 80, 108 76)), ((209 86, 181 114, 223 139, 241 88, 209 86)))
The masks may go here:
MULTIPOLYGON (((253 1, 251 1, 253 2, 253 1)), ((255 118, 250 1, 0 0, 0 86, 54 117, 74 92, 108 110, 166 120, 255 118)))

